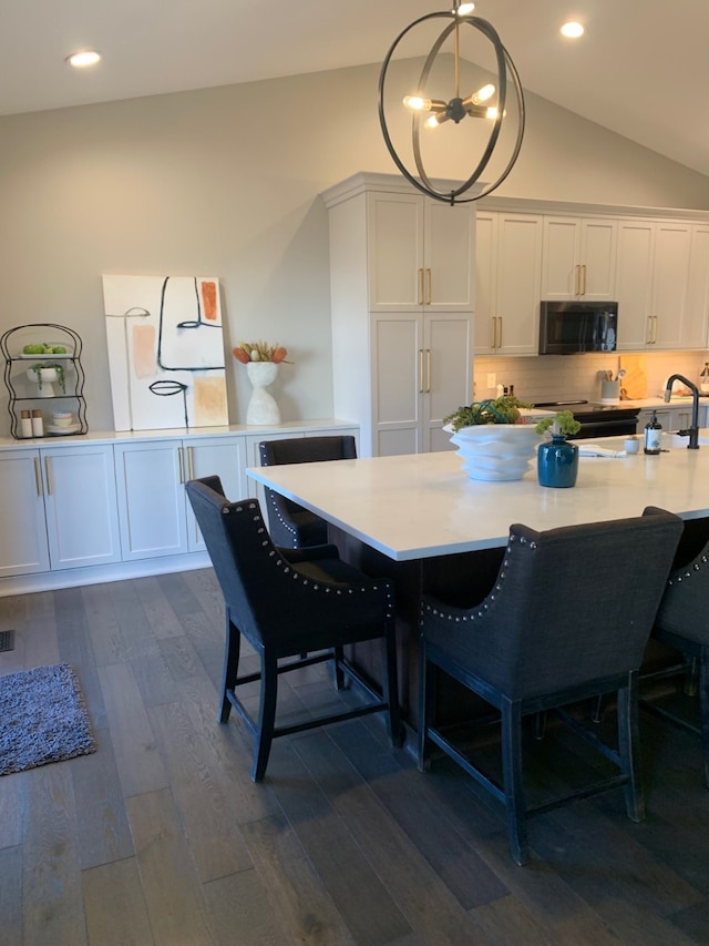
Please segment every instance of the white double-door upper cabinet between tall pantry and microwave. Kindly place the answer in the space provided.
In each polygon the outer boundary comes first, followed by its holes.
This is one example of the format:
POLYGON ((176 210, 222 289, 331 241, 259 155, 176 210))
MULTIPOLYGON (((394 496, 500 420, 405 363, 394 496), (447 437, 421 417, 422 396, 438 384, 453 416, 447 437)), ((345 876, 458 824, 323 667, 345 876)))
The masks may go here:
POLYGON ((536 355, 542 298, 538 214, 477 211, 475 233, 475 352, 536 355))

